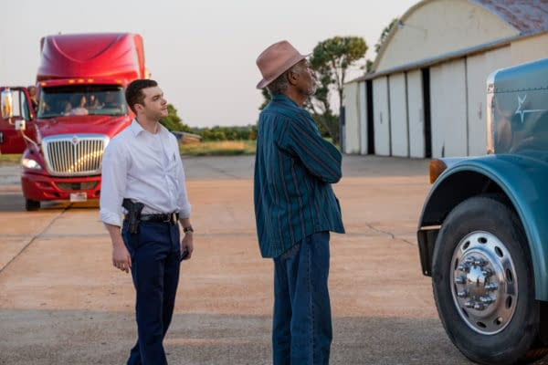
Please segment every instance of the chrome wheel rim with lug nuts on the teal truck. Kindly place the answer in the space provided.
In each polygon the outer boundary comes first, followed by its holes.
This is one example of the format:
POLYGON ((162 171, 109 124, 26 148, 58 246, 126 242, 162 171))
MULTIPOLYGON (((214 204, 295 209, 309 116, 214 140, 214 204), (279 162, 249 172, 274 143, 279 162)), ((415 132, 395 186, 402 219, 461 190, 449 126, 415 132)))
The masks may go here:
POLYGON ((518 282, 510 252, 489 232, 466 235, 451 259, 451 292, 458 314, 474 331, 494 335, 516 310, 518 282))

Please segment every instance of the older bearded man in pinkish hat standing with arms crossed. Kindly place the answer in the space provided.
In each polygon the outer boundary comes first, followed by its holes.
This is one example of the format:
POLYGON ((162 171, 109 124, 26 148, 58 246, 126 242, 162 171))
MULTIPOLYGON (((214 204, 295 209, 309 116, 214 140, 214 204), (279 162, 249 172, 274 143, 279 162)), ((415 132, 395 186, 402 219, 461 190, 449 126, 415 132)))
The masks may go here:
POLYGON ((316 90, 305 57, 281 41, 257 59, 257 88, 272 97, 258 119, 254 198, 260 252, 274 258, 275 365, 329 363, 329 232, 344 233, 331 186, 342 156, 302 109, 316 90))

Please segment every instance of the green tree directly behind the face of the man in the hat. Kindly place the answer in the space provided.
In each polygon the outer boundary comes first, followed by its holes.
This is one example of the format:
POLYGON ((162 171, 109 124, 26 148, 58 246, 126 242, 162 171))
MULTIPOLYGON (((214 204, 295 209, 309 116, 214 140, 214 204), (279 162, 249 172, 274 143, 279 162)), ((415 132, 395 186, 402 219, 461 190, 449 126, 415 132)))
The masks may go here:
POLYGON ((319 85, 308 107, 318 116, 318 121, 328 130, 335 143, 339 142, 339 119, 338 113, 331 107, 331 91, 334 89, 337 93, 341 106, 347 72, 357 66, 366 51, 367 45, 360 36, 333 36, 318 43, 312 51, 310 65, 319 85))

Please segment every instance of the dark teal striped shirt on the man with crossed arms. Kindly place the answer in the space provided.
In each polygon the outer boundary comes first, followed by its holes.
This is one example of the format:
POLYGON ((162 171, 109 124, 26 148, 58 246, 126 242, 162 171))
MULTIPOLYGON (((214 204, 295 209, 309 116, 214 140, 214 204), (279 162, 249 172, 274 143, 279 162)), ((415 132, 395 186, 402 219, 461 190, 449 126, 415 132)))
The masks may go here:
POLYGON ((277 257, 307 235, 344 233, 332 190, 341 153, 325 141, 310 113, 274 95, 258 119, 254 202, 263 257, 277 257))

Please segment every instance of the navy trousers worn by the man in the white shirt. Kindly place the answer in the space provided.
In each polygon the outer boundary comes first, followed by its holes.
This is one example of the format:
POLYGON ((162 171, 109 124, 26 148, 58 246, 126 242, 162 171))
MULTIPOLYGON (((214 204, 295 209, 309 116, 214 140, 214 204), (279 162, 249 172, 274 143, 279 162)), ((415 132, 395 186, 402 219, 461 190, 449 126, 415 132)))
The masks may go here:
POLYGON ((127 364, 167 364, 163 338, 174 313, 179 283, 179 226, 142 222, 139 233, 132 235, 124 222, 121 235, 132 256, 138 334, 127 364))

